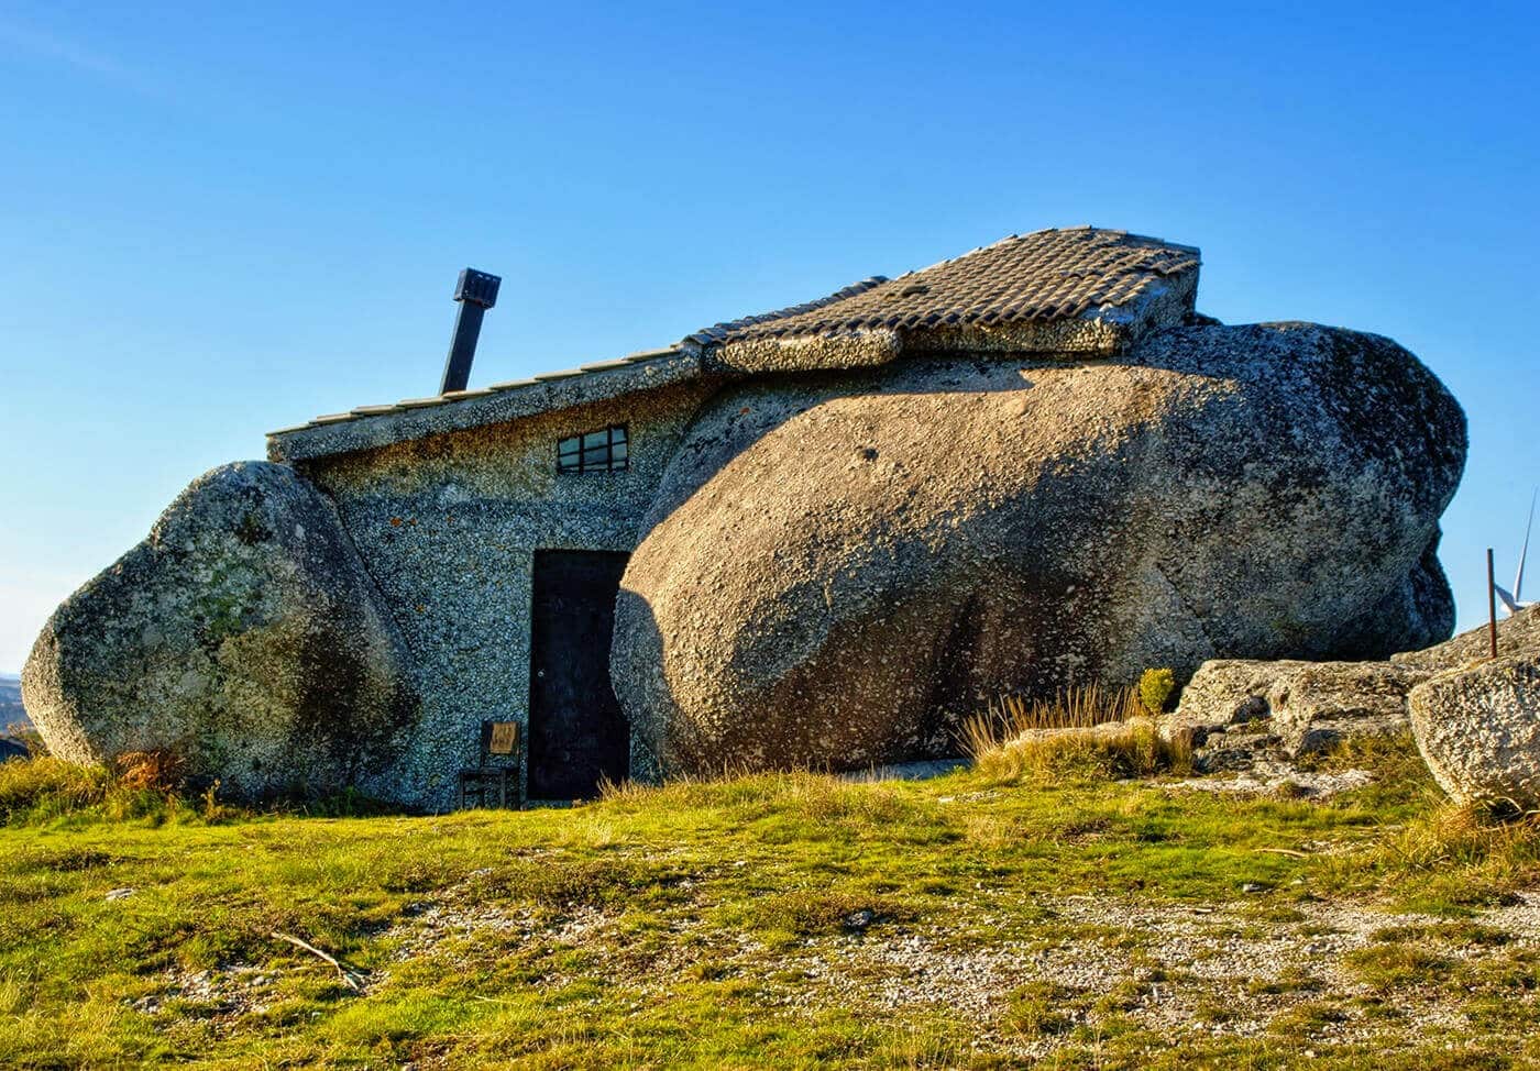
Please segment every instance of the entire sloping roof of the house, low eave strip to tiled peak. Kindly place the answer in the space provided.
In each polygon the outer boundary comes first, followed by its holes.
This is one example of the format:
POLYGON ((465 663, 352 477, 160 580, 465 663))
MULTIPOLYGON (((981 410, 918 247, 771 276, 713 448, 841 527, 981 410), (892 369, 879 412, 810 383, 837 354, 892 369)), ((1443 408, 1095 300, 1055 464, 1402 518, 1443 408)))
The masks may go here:
POLYGON ((896 279, 702 328, 619 360, 474 391, 365 405, 270 432, 302 462, 502 423, 713 374, 881 365, 901 352, 1120 352, 1194 309, 1200 254, 1090 226, 1010 235, 896 279))

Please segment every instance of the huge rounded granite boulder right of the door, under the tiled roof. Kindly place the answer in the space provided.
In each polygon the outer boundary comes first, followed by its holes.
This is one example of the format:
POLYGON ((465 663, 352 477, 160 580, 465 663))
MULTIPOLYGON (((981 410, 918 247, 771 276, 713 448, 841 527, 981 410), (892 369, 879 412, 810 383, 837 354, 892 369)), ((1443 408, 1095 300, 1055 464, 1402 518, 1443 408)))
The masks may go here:
POLYGON ((1465 417, 1388 339, 1163 331, 718 395, 664 475, 611 672, 664 772, 955 749, 1004 691, 1448 636, 1465 417))

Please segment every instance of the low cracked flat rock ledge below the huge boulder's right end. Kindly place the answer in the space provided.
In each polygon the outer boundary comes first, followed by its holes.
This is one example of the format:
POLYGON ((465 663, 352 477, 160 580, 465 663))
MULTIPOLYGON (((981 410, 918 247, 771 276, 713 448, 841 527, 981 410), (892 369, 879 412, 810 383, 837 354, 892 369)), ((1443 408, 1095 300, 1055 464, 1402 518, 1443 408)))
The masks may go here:
POLYGON ((1406 694, 1432 676, 1391 662, 1204 662, 1161 723, 1207 772, 1297 760, 1346 737, 1408 729, 1406 694))

